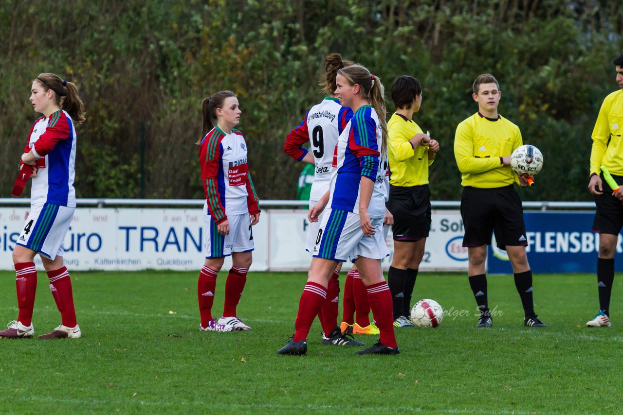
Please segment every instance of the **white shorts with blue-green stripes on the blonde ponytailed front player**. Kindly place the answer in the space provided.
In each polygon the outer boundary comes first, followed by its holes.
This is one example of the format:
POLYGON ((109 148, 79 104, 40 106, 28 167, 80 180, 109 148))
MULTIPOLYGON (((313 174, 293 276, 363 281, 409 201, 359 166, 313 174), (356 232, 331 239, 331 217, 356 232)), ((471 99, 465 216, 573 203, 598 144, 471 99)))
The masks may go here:
POLYGON ((376 229, 373 236, 363 235, 359 215, 328 208, 320 221, 313 256, 345 262, 348 257, 383 259, 389 255, 383 238, 383 218, 370 220, 376 229))

